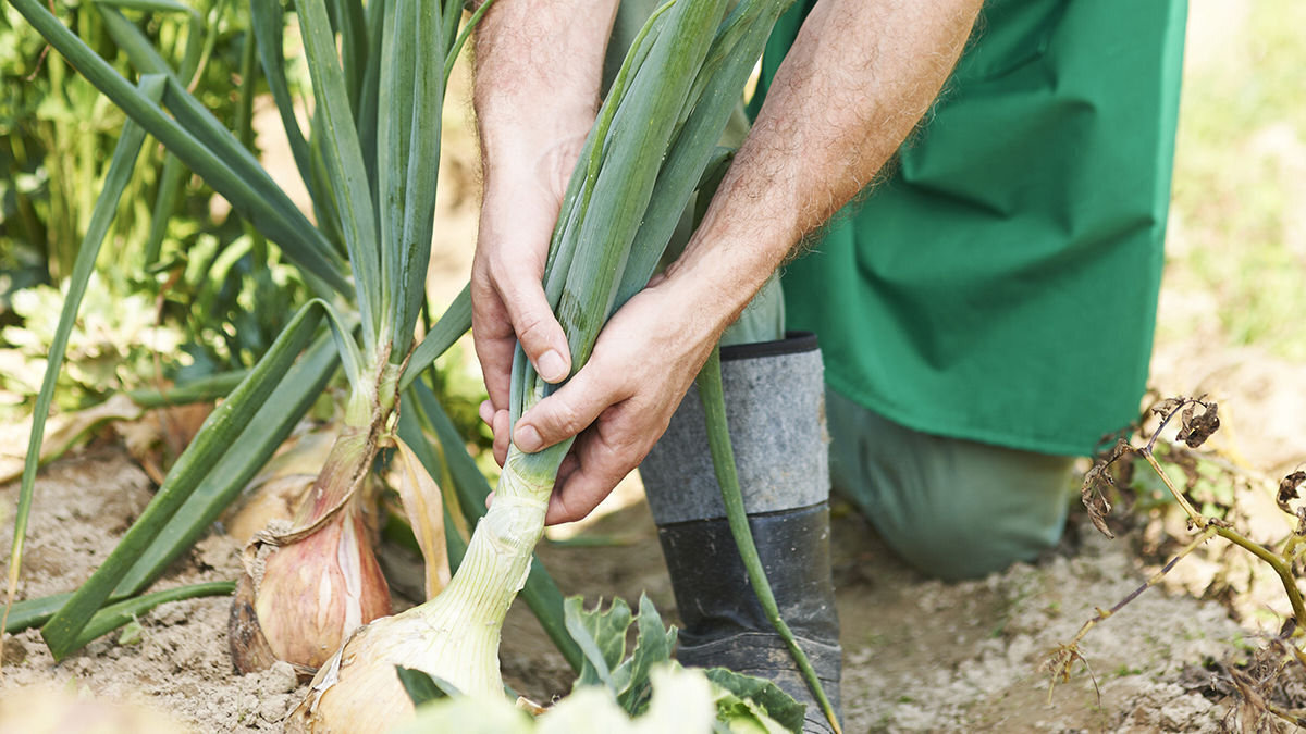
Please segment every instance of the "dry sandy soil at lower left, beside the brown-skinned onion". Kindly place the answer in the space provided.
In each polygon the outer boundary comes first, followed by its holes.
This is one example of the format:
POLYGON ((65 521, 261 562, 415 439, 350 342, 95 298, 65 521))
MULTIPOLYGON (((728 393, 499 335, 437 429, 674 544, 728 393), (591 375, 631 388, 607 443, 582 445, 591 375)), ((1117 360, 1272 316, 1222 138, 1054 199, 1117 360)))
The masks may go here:
MULTIPOLYGON (((76 588, 108 555, 118 537, 149 502, 153 485, 118 445, 90 448, 42 473, 27 530, 20 598, 76 588)), ((5 507, 17 502, 17 482, 3 492, 5 507)), ((7 524, 0 543, 9 547, 7 524)), ((168 588, 234 579, 239 543, 212 534, 180 559, 158 584, 168 588)), ((137 701, 161 709, 195 731, 279 730, 279 721, 298 703, 299 687, 289 666, 235 675, 226 645, 229 598, 165 605, 140 619, 135 635, 114 632, 60 663, 50 657, 37 630, 5 643, 4 692, 9 710, 30 714, 16 701, 29 686, 52 686, 77 696, 137 701)), ((51 699, 51 705, 61 705, 51 699)), ((22 720, 20 720, 22 721, 22 720)), ((89 722, 77 722, 77 725, 89 722)), ((21 730, 13 718, 0 731, 21 730)), ((67 729, 64 729, 67 730, 67 729)))

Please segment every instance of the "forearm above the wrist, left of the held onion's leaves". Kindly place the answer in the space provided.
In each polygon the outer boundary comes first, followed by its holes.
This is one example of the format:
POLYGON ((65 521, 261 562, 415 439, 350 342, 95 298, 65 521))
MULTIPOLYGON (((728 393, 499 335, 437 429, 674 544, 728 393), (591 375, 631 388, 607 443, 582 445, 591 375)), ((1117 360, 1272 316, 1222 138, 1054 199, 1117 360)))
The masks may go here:
POLYGON ((584 138, 616 0, 496 0, 477 29, 473 102, 486 175, 584 138))

